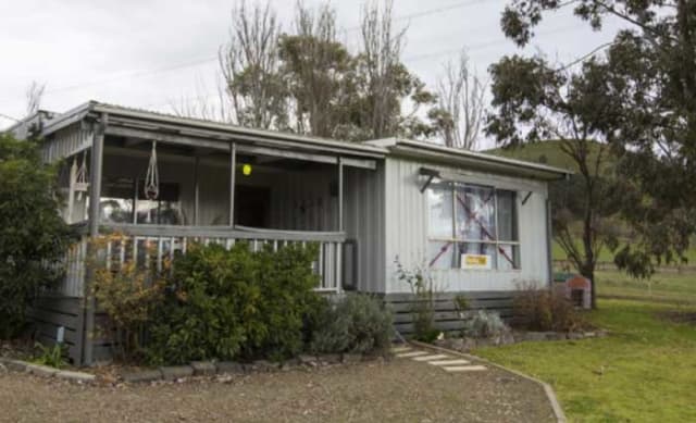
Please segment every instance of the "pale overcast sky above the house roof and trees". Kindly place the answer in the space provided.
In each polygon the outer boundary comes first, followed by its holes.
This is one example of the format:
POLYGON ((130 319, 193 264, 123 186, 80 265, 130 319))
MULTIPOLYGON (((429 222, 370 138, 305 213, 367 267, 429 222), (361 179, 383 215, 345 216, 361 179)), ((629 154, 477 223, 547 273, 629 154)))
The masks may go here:
MULTIPOLYGON (((559 12, 537 28, 531 46, 519 50, 500 30, 506 2, 395 0, 395 23, 407 28, 402 61, 434 88, 444 64, 462 49, 485 78, 488 66, 505 54, 543 52, 567 63, 609 41, 618 28, 608 22, 595 33, 570 11, 559 12)), ((363 2, 331 3, 341 39, 356 48, 363 2)), ((295 0, 271 4, 289 30, 295 0)), ((32 82, 46 85, 41 109, 55 112, 88 100, 161 112, 200 97, 212 101, 220 77, 216 53, 228 37, 234 5, 234 0, 2 1, 0 128, 13 123, 1 115, 25 115, 32 82)))

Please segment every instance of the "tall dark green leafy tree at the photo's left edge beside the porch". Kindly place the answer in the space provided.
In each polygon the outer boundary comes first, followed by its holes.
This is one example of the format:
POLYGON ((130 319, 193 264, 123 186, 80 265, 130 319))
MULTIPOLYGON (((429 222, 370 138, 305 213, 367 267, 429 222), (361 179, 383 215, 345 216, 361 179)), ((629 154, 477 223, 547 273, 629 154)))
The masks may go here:
POLYGON ((33 141, 0 135, 0 338, 25 326, 27 306, 61 275, 59 260, 72 240, 57 210, 55 170, 33 141))

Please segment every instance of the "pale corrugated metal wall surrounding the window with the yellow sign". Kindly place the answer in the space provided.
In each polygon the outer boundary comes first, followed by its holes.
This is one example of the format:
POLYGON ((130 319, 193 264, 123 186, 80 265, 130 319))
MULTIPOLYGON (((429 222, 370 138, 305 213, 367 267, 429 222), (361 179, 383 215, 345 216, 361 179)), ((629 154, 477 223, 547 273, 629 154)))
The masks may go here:
MULTIPOLYGON (((425 177, 419 176, 423 163, 388 158, 385 164, 386 183, 386 293, 408 293, 409 286, 395 276, 394 260, 398 256, 406 269, 426 268, 427 202, 420 188, 425 177)), ((546 184, 531 179, 469 172, 464 169, 432 165, 440 171, 467 174, 472 184, 492 185, 518 191, 521 270, 514 271, 432 271, 438 289, 444 291, 514 290, 522 282, 548 283, 546 234, 546 184), (522 199, 532 191, 526 203, 522 199)))

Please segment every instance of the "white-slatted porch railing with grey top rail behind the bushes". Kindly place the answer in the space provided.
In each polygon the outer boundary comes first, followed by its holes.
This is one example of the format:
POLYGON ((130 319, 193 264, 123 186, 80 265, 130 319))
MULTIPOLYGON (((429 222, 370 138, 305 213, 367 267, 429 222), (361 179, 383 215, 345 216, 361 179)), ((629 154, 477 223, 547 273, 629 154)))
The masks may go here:
MULTIPOLYGON (((322 293, 339 293, 343 286, 343 254, 346 236, 339 232, 300 232, 274 231, 235 226, 171 226, 171 225, 101 225, 100 232, 119 233, 116 240, 105 241, 105 264, 110 269, 119 269, 126 261, 135 260, 144 265, 156 265, 162 270, 165 260, 172 261, 176 252, 186 253, 191 242, 203 245, 220 244, 231 248, 237 241, 246 241, 249 248, 257 251, 264 245, 274 250, 281 247, 308 242, 319 244, 319 253, 313 263, 314 272, 320 276, 315 290, 322 293)), ((85 260, 87 257, 87 238, 69 251, 66 257, 66 277, 61 286, 62 294, 82 296, 85 282, 85 260)))

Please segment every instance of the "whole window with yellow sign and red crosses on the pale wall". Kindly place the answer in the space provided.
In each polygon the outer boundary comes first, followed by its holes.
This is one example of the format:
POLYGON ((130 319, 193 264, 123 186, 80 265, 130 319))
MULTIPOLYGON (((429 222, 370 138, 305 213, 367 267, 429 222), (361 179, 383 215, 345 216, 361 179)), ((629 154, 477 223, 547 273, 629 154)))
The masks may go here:
POLYGON ((427 206, 431 269, 520 269, 514 191, 437 182, 427 206))

